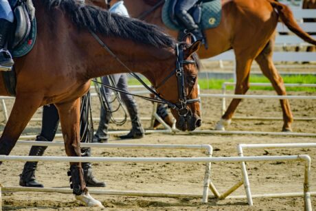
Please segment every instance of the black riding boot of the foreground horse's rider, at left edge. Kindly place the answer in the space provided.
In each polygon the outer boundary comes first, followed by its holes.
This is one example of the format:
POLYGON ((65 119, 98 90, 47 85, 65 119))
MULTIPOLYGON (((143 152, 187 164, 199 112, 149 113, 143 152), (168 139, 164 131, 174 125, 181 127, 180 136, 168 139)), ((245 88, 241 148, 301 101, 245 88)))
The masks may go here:
POLYGON ((10 71, 14 65, 14 61, 7 49, 8 34, 13 23, 5 19, 0 19, 0 71, 10 71))

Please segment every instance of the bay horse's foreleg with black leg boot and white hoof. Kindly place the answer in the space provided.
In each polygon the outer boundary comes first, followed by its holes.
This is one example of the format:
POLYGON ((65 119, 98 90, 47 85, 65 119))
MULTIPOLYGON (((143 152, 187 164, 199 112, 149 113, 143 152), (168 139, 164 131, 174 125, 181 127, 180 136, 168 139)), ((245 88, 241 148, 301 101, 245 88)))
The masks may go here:
MULTIPOLYGON (((68 156, 81 156, 80 151, 80 98, 72 102, 56 104, 60 124, 65 141, 65 149, 68 156)), ((89 207, 103 207, 102 203, 89 195, 81 163, 70 163, 69 176, 71 176, 71 188, 76 199, 89 207)))

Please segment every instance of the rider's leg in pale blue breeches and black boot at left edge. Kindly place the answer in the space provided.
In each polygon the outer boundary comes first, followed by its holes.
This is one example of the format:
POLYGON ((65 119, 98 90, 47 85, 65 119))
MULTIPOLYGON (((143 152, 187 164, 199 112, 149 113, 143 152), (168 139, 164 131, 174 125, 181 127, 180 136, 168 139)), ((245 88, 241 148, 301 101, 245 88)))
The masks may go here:
POLYGON ((8 0, 0 0, 0 71, 11 70, 14 65, 8 52, 8 35, 13 26, 14 16, 8 0))

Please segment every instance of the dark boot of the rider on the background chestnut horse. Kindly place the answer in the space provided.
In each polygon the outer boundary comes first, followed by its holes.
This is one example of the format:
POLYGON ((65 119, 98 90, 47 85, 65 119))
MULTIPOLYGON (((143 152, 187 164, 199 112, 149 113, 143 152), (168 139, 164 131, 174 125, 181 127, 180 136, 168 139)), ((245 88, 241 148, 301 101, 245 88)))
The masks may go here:
POLYGON ((195 40, 203 40, 204 36, 202 31, 199 29, 199 25, 194 22, 192 16, 185 10, 177 13, 177 18, 185 25, 188 32, 191 32, 195 36, 195 40))

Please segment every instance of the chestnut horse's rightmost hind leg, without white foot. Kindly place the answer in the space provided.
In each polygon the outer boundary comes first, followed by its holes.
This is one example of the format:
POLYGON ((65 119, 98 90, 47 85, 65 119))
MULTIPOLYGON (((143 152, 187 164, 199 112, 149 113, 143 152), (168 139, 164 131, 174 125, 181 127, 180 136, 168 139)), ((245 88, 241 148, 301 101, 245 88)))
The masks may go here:
MULTIPOLYGON (((277 69, 275 68, 272 60, 273 54, 273 45, 274 45, 274 38, 271 38, 269 43, 264 47, 262 52, 256 58, 257 63, 260 65, 262 73, 264 76, 269 78, 271 84, 275 91, 278 93, 279 96, 286 96, 286 90, 284 87, 284 82, 280 74, 278 74, 277 69)), ((293 115, 291 112, 289 100, 280 100, 282 113, 283 113, 283 127, 282 131, 290 132, 291 124, 293 122, 293 115)))

